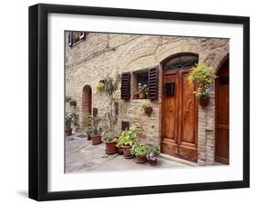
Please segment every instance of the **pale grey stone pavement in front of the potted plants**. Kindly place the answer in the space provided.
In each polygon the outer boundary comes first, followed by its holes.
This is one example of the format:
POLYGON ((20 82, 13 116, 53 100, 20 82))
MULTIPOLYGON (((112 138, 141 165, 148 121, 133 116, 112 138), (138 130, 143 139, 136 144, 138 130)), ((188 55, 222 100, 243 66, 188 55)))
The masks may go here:
POLYGON ((185 168, 185 165, 176 161, 169 161, 159 157, 158 164, 138 164, 134 159, 124 159, 123 155, 105 153, 105 143, 92 145, 87 137, 72 135, 66 137, 66 172, 82 171, 128 171, 159 168, 185 168))

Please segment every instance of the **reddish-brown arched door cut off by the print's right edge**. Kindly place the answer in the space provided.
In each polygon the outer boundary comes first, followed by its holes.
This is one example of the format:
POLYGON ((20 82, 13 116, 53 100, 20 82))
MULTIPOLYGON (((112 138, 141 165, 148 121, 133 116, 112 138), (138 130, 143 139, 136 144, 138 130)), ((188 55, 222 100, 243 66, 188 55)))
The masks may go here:
POLYGON ((216 79, 216 140, 215 161, 229 163, 230 151, 230 71, 229 61, 224 63, 216 79))

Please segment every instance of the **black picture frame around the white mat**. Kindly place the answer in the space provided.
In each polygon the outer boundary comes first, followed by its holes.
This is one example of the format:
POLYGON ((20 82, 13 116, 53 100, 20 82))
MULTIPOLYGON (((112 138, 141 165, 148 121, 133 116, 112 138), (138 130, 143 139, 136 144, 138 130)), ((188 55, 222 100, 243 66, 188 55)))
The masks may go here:
POLYGON ((199 15, 76 5, 29 7, 29 198, 67 200, 154 194, 192 190, 250 187, 250 18, 230 15, 199 15), (178 185, 156 185, 99 190, 47 190, 47 15, 75 14, 242 24, 243 26, 243 180, 178 185))

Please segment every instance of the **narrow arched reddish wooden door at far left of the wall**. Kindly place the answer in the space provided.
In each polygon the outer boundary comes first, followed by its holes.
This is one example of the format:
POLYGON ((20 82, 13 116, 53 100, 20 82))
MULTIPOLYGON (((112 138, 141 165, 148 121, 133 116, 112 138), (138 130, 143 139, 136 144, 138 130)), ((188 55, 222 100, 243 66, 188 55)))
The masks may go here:
POLYGON ((92 90, 89 85, 84 86, 82 93, 82 127, 87 126, 87 114, 92 112, 92 90))

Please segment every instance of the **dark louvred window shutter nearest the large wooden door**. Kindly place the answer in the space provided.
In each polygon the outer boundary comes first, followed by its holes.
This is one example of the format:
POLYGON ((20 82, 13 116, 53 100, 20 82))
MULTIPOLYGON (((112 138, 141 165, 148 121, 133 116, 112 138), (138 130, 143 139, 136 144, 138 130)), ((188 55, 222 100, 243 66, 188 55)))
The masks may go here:
POLYGON ((148 70, 148 98, 151 101, 159 99, 159 67, 148 70))

